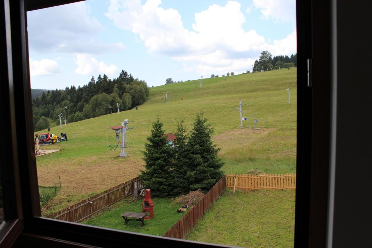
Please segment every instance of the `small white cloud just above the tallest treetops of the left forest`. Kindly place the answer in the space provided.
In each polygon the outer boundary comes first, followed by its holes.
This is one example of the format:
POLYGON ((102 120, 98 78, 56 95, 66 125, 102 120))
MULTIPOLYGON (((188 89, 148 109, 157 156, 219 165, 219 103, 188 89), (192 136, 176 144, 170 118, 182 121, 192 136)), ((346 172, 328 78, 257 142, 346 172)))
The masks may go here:
POLYGON ((115 74, 118 71, 118 67, 113 64, 109 66, 103 61, 98 62, 98 60, 89 54, 77 54, 76 55, 77 68, 75 73, 77 74, 115 74))

